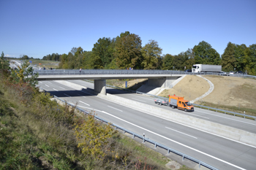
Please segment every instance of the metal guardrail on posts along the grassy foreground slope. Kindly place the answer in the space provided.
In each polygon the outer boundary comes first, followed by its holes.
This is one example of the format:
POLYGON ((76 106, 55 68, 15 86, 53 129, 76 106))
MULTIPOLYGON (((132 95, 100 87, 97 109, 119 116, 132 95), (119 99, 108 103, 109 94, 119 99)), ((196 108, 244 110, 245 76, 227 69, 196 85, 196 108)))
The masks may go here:
MULTIPOLYGON (((67 101, 62 100, 61 98, 59 98, 59 97, 57 97, 57 96, 54 96, 54 98, 57 98, 57 99, 59 99, 60 101, 62 101, 62 102, 64 102, 64 103, 67 103, 67 104, 68 104, 69 106, 71 106, 71 107, 75 107, 74 104, 69 104, 67 101)), ((87 115, 90 114, 90 112, 88 112, 88 111, 86 111, 86 110, 84 110, 84 109, 80 109, 79 107, 76 107, 76 109, 78 109, 80 112, 86 113, 87 115)), ((99 116, 97 116, 97 115, 94 115, 94 117, 95 117, 97 120, 100 120, 101 122, 104 122, 104 123, 107 123, 107 124, 109 124, 109 125, 112 125, 115 129, 118 128, 118 129, 120 129, 121 131, 124 131, 124 134, 125 134, 125 133, 131 134, 133 139, 134 139, 135 137, 138 137, 139 139, 143 139, 143 143, 148 142, 148 143, 150 143, 150 144, 154 144, 154 148, 161 147, 161 148, 167 150, 167 154, 169 154, 170 152, 173 152, 173 153, 175 153, 176 155, 180 155, 180 156, 182 156, 182 161, 184 161, 184 159, 187 158, 187 159, 190 160, 190 161, 193 161, 193 162, 195 162, 195 163, 198 163, 199 169, 200 169, 200 166, 205 166, 205 167, 208 168, 208 169, 218 170, 217 168, 214 168, 214 166, 210 166, 210 165, 208 165, 207 163, 204 163, 204 162, 202 162, 202 161, 200 161, 200 160, 197 160, 197 159, 195 159, 195 158, 193 158, 193 157, 191 157, 191 156, 189 156, 189 155, 186 155, 186 154, 184 154, 184 153, 182 153, 182 152, 178 152, 177 150, 173 150, 172 148, 166 147, 165 145, 159 144, 158 142, 154 142, 153 140, 148 139, 148 138, 146 138, 145 136, 141 136, 141 135, 139 135, 139 134, 136 134, 136 133, 134 133, 134 132, 132 132, 132 131, 129 131, 129 130, 126 129, 126 128, 122 128, 122 127, 119 126, 119 125, 116 125, 116 124, 114 124, 114 123, 110 123, 108 120, 102 119, 101 117, 99 117, 99 116)))

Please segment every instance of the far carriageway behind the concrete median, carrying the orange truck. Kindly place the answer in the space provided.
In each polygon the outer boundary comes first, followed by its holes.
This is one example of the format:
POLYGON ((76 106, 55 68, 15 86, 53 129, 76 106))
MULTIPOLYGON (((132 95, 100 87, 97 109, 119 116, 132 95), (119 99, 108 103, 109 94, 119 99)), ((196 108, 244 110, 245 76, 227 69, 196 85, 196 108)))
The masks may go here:
MULTIPOLYGON (((94 89, 94 83, 91 82, 86 82, 82 80, 69 80, 69 82, 76 83, 78 85, 83 85, 87 88, 90 88, 91 90, 94 89)), ((197 117, 203 120, 208 120, 214 123, 219 123, 222 125, 227 125, 233 128, 238 128, 244 131, 249 131, 254 134, 256 134, 256 121, 255 120, 249 120, 249 119, 244 119, 242 117, 235 117, 233 115, 225 115, 223 113, 219 112, 214 112, 211 110, 206 110, 206 109, 200 109, 195 107, 195 112, 184 112, 179 109, 172 109, 171 107, 167 106, 159 106, 158 104, 154 104, 154 99, 149 97, 149 96, 143 96, 140 94, 135 94, 135 93, 127 93, 124 90, 118 90, 118 89, 113 89, 113 88, 108 88, 107 87, 107 93, 120 96, 123 98, 127 98, 133 101, 138 101, 143 104, 148 104, 154 107, 160 107, 162 109, 168 109, 172 110, 174 112, 178 112, 184 115, 189 115, 192 117, 197 117)))

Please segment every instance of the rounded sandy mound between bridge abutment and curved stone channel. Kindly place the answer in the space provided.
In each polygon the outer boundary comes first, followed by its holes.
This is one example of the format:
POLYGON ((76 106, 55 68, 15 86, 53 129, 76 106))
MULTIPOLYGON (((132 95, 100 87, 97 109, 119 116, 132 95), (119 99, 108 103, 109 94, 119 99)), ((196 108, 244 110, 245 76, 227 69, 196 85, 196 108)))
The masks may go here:
POLYGON ((202 96, 210 88, 206 80, 195 75, 187 75, 173 88, 164 90, 159 96, 167 97, 175 94, 176 96, 184 96, 185 99, 191 101, 199 96, 202 96))

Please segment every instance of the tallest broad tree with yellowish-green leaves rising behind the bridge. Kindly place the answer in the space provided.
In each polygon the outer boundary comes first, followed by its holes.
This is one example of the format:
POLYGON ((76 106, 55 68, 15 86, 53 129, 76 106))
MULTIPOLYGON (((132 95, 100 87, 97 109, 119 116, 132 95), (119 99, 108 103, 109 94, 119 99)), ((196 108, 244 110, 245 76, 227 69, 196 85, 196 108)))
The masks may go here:
MULTIPOLYGON (((127 32, 126 32, 127 33, 127 32)), ((120 69, 135 68, 140 69, 141 57, 141 39, 136 34, 120 34, 116 38, 116 65, 120 69)))

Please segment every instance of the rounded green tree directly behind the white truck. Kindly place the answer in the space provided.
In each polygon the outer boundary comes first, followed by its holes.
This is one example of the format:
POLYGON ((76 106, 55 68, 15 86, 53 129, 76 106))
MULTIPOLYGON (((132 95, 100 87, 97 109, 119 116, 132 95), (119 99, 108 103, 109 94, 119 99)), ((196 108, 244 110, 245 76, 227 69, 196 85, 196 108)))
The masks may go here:
POLYGON ((199 42, 198 45, 195 45, 193 51, 195 53, 195 63, 214 65, 221 63, 219 53, 217 53, 217 51, 207 42, 199 42))

